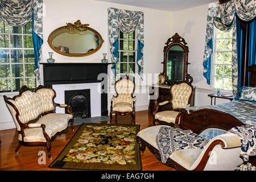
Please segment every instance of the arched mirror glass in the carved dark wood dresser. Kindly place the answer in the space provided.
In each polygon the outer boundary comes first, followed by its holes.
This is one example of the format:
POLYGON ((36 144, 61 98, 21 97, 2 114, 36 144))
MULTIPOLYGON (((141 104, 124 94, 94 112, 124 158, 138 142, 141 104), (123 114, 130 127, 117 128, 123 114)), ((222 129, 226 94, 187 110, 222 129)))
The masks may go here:
POLYGON ((168 80, 183 81, 184 51, 180 46, 172 46, 167 55, 168 80))

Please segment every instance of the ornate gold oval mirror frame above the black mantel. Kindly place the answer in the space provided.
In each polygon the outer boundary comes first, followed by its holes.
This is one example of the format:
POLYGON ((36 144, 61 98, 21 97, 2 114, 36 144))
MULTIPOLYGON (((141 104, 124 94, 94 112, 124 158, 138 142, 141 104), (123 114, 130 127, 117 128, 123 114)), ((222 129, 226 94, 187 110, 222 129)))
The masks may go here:
POLYGON ((104 40, 102 39, 100 33, 98 33, 96 30, 94 30, 93 28, 88 27, 89 24, 81 24, 80 20, 77 20, 74 24, 72 23, 67 23, 67 26, 62 26, 59 28, 56 28, 55 30, 53 30, 51 32, 51 34, 48 37, 48 44, 49 46, 53 49, 53 51, 64 55, 64 56, 70 56, 70 57, 82 57, 82 56, 88 56, 88 55, 92 55, 93 53, 97 52, 98 49, 101 48, 102 44, 104 43, 104 40), (86 53, 81 53, 81 54, 77 54, 77 55, 72 55, 70 53, 65 53, 65 52, 61 52, 58 49, 56 49, 53 45, 52 45, 52 36, 60 31, 60 30, 64 30, 65 28, 69 29, 69 30, 79 30, 79 31, 86 31, 86 30, 90 30, 92 32, 94 32, 94 34, 96 34, 98 36, 98 38, 100 39, 100 44, 98 44, 98 47, 96 47, 93 51, 90 52, 86 52, 86 53))

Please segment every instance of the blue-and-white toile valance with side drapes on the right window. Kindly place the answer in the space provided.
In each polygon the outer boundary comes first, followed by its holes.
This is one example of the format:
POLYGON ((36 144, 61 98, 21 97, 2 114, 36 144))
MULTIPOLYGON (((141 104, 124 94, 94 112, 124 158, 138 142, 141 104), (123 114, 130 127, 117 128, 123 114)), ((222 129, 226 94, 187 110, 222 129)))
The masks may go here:
MULTIPOLYGON (((205 51, 204 51, 204 77, 207 79, 207 84, 210 84, 210 56, 212 55, 212 40, 213 40, 213 24, 216 28, 222 31, 229 31, 233 28, 233 43, 232 43, 232 84, 233 94, 236 96, 238 86, 238 62, 237 56, 237 19, 249 21, 255 18, 255 0, 231 0, 229 2, 213 6, 208 10, 207 16, 207 30, 205 37, 205 51)), ((255 32, 254 32, 255 35, 255 32)), ((239 35, 238 35, 239 36, 239 35)), ((255 45, 255 44, 254 44, 255 45)), ((239 45, 238 45, 239 46, 239 45)), ((255 47, 255 46, 254 46, 255 47)), ((255 49, 255 48, 254 48, 255 49)), ((251 52, 253 50, 251 49, 251 52)), ((254 50, 255 53, 255 50, 254 50)))

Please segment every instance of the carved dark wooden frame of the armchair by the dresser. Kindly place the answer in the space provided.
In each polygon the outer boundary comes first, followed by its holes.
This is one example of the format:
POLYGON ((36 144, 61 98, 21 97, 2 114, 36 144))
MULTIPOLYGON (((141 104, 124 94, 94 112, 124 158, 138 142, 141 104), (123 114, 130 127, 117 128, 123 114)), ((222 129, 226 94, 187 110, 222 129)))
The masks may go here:
MULTIPOLYGON (((190 104, 191 103, 191 97, 193 96, 193 90, 194 90, 193 86, 191 85, 190 82, 187 82, 187 81, 179 81, 179 82, 176 82, 174 85, 179 85, 179 84, 182 84, 182 83, 188 84, 191 87, 191 89, 192 89, 192 92, 191 92, 191 94, 190 94, 190 96, 188 98, 188 104, 190 104)), ((172 85, 172 86, 174 86, 174 85, 172 85)), ((171 93, 172 86, 170 88, 170 93, 171 93)), ((172 93, 171 93, 171 100, 169 100, 166 104, 172 104, 172 99, 173 99, 173 96, 172 96, 172 93)), ((159 119, 155 119, 155 114, 158 112, 159 107, 160 106, 164 106, 166 104, 163 104, 163 105, 158 104, 156 106, 155 111, 152 113, 152 115, 153 115, 153 125, 156 125, 156 122, 158 122, 160 125, 169 125, 169 126, 180 127, 179 118, 181 117, 181 113, 182 113, 181 110, 182 109, 173 109, 172 108, 172 110, 179 112, 179 114, 177 115, 177 117, 175 119, 175 123, 167 123, 165 121, 160 121, 159 119)))

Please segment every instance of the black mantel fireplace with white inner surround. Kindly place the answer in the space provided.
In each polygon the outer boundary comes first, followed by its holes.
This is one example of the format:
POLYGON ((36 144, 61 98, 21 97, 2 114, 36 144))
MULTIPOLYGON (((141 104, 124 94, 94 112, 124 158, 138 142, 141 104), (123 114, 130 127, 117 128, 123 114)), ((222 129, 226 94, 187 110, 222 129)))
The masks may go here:
MULTIPOLYGON (((88 111, 85 112, 85 114, 83 111, 77 111, 77 117, 108 116, 108 93, 99 93, 97 91, 99 86, 102 89, 104 89, 105 86, 108 86, 108 80, 104 80, 104 78, 100 78, 99 80, 98 75, 101 73, 108 74, 108 65, 113 63, 40 64, 43 65, 44 85, 55 89, 56 102, 63 104, 65 102, 64 92, 78 90, 77 92, 79 92, 79 96, 74 96, 74 98, 71 99, 71 102, 83 100, 84 103, 86 102, 86 105, 88 105, 88 111), (103 81, 105 81, 105 84, 103 81), (90 89, 90 94, 81 91, 86 89, 90 89), (87 96, 89 98, 87 98, 87 96), (84 100, 85 98, 86 101, 84 100)), ((73 94, 71 93, 71 96, 73 96, 73 94)), ((68 101, 65 102, 65 104, 68 104, 68 101)), ((77 104, 80 105, 81 103, 77 102, 77 104)), ((56 112, 65 113, 65 110, 61 109, 63 108, 56 108, 56 112)))

